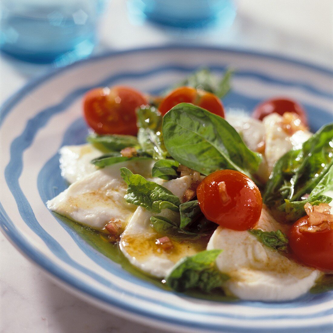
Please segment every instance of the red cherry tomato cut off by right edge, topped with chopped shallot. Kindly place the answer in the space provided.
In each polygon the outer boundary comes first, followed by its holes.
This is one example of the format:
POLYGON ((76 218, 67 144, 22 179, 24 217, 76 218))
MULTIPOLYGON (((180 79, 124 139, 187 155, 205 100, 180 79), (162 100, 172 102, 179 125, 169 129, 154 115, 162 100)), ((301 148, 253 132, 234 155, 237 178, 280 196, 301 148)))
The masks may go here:
POLYGON ((321 270, 333 271, 333 229, 306 231, 309 216, 297 220, 289 230, 289 245, 297 259, 321 270), (305 228, 304 228, 305 226, 305 228), (302 227, 300 230, 300 227, 302 227))

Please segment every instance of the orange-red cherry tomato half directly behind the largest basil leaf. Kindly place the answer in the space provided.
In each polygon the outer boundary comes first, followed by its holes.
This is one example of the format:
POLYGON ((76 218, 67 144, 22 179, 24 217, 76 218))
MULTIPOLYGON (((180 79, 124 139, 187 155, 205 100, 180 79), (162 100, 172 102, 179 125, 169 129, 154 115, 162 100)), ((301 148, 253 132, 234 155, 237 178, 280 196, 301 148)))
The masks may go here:
POLYGON ((224 117, 223 105, 218 97, 204 90, 191 87, 180 87, 167 95, 159 106, 159 111, 165 115, 171 108, 179 103, 192 103, 203 109, 224 117))

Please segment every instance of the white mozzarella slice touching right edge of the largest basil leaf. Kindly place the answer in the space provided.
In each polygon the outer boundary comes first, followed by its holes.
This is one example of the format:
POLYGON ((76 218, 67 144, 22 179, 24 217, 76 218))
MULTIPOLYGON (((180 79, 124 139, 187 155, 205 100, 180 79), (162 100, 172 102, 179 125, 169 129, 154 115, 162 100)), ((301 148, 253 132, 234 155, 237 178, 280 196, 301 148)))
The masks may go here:
POLYGON ((256 151, 258 145, 264 142, 265 126, 260 120, 242 113, 227 114, 225 120, 239 133, 248 148, 256 151))

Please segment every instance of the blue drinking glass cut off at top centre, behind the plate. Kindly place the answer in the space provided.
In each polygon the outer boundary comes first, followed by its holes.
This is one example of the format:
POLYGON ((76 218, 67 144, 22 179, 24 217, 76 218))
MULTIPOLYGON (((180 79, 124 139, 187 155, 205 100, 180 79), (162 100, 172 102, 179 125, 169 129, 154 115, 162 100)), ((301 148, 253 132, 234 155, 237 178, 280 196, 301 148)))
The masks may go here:
POLYGON ((227 27, 236 15, 232 0, 129 0, 128 6, 150 22, 181 29, 227 27))

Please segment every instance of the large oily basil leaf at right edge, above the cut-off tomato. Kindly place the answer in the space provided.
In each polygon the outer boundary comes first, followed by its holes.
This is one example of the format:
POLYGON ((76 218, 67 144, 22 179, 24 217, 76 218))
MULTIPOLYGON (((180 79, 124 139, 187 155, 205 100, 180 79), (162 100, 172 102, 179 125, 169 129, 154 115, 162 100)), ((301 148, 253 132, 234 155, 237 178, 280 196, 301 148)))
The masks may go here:
POLYGON ((301 216, 304 213, 302 205, 295 204, 291 207, 290 203, 300 201, 306 193, 311 193, 312 202, 327 201, 322 193, 330 188, 328 182, 331 176, 324 177, 332 165, 333 123, 323 126, 300 149, 290 150, 275 163, 266 184, 263 201, 270 208, 284 212, 287 210, 287 219, 293 220, 296 216, 301 216))

